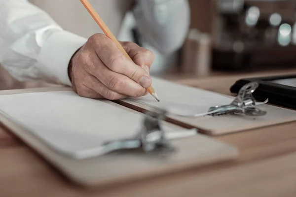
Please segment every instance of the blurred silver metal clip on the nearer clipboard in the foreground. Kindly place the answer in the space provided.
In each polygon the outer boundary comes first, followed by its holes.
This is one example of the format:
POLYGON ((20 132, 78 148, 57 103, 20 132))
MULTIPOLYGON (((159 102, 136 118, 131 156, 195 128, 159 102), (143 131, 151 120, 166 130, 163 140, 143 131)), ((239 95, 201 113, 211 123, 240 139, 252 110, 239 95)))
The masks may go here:
POLYGON ((168 155, 176 152, 171 144, 171 139, 190 137, 197 133, 196 129, 166 132, 161 126, 161 121, 167 114, 166 110, 147 112, 141 130, 131 139, 110 141, 104 144, 105 153, 118 150, 142 149, 144 153, 156 152, 168 155))

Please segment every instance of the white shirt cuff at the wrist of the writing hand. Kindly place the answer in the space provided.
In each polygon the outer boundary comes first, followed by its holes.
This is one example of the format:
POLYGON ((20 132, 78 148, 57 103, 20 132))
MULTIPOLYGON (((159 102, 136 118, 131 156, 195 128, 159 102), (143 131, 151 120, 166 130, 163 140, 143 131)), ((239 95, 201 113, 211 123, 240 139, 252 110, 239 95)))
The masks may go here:
POLYGON ((67 31, 53 33, 44 42, 39 54, 39 61, 45 66, 45 72, 49 72, 62 84, 72 86, 68 65, 75 51, 86 41, 86 38, 67 31))

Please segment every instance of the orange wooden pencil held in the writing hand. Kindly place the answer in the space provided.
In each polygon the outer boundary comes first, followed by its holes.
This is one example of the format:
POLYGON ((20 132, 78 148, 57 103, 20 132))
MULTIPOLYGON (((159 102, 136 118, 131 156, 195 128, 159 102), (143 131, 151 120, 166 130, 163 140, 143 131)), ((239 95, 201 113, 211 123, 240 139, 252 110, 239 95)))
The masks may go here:
MULTIPOLYGON (((118 42, 118 40, 115 38, 115 36, 111 33, 111 31, 109 30, 109 28, 107 27, 107 25, 104 23, 104 21, 101 19, 101 17, 98 15, 98 13, 95 11, 95 9, 92 7, 92 5, 88 2, 88 0, 80 0, 81 3, 84 5, 84 7, 86 8, 86 10, 89 12, 89 14, 93 17, 93 19, 96 21, 96 23, 100 26, 100 28, 102 29, 102 31, 113 41, 115 42, 116 46, 118 47, 118 49, 121 51, 121 53, 127 57, 128 59, 130 59, 131 61, 133 61, 131 59, 131 57, 129 57, 129 55, 126 53, 126 51, 124 50, 124 48, 121 46, 121 44, 118 42)), ((157 94, 155 93, 154 89, 152 86, 147 88, 148 93, 154 97, 156 100, 159 101, 157 94)))

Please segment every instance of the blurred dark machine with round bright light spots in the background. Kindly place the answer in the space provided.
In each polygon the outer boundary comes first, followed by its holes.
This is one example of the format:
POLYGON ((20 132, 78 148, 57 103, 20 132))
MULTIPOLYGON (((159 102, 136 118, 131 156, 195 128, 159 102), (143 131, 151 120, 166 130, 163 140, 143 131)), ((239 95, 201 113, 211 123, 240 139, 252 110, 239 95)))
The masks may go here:
POLYGON ((213 0, 213 69, 296 67, 296 0, 213 0))

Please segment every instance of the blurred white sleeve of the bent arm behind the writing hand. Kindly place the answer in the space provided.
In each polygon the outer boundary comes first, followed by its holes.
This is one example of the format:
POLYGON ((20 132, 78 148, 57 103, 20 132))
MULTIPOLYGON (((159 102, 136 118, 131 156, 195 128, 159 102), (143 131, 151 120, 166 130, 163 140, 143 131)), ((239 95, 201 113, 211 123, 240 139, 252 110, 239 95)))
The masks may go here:
POLYGON ((133 13, 139 33, 158 52, 168 55, 184 44, 190 27, 188 0, 137 0, 133 13))

